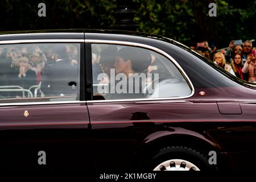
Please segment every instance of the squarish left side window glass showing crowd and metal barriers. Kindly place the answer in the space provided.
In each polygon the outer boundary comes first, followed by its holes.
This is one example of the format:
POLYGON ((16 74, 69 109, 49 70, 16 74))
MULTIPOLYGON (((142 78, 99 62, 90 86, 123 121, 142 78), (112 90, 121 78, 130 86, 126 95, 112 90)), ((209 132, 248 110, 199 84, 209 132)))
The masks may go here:
POLYGON ((79 100, 80 44, 0 46, 0 103, 79 100))

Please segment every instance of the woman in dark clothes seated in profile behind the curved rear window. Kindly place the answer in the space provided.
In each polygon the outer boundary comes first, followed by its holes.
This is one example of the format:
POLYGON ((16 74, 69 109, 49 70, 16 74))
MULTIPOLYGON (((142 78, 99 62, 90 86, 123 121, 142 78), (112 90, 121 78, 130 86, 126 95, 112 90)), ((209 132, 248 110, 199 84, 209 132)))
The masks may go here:
POLYGON ((123 47, 119 49, 114 68, 114 93, 106 94, 106 99, 144 98, 143 88, 146 86, 146 74, 151 63, 150 52, 143 48, 123 47))

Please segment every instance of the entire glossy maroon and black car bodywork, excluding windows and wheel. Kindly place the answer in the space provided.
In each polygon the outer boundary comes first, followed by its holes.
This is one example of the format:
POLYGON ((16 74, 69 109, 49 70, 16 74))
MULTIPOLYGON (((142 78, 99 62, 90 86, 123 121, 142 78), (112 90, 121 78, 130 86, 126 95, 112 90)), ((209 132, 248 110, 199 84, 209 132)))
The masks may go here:
MULTIPOLYGON (((0 38, 84 39, 81 30, 75 31, 80 32, 75 36, 60 32, 63 34, 57 36, 49 33, 0 38)), ((37 164, 37 152, 46 150, 51 164, 46 169, 59 166, 59 169, 75 169, 76 166, 77 169, 125 171, 137 168, 143 158, 149 160, 151 154, 162 147, 187 146, 198 148, 206 155, 211 150, 217 151, 220 159, 217 163, 222 164, 222 168, 228 165, 231 169, 244 169, 244 166, 255 169, 251 163, 256 160, 256 90, 253 87, 169 39, 135 32, 84 32, 85 40, 117 40, 162 49, 187 73, 195 94, 177 100, 88 102, 87 108, 85 104, 2 106, 1 146, 6 149, 3 150, 6 155, 9 148, 13 149, 12 155, 6 158, 10 168, 16 163, 16 158, 11 156, 22 148, 27 153, 22 153, 26 157, 20 158, 18 164, 27 168, 44 168, 37 164), (199 94, 201 91, 205 92, 204 96, 199 94), (26 109, 32 111, 29 119, 23 117, 26 109), (62 157, 67 162, 61 160, 62 157)), ((86 75, 81 73, 81 86, 86 86, 81 88, 80 100, 86 94, 88 101, 92 100, 93 93, 90 51, 90 44, 86 43, 86 75)), ((81 61, 81 67, 82 64, 81 61)))

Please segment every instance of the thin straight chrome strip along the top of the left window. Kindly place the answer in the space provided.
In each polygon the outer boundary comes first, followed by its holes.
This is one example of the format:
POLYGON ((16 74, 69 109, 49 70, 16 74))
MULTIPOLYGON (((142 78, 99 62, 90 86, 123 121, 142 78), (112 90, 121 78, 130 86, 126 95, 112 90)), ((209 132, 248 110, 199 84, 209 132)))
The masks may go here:
POLYGON ((31 40, 0 40, 0 44, 19 44, 19 43, 84 43, 84 39, 31 39, 31 40))

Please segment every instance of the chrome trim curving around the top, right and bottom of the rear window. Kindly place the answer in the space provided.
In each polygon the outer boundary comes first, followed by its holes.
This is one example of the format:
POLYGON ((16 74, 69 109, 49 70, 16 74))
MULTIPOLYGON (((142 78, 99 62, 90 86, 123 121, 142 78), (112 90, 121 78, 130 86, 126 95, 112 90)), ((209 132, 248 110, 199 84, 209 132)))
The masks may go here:
POLYGON ((184 99, 184 98, 189 98, 192 97, 195 94, 195 88, 187 76, 187 74, 184 72, 183 68, 180 67, 179 63, 168 53, 162 51, 159 48, 153 47, 153 46, 148 46, 146 44, 141 44, 141 43, 134 43, 134 42, 125 42, 125 41, 118 41, 118 40, 94 40, 94 39, 86 39, 85 38, 85 43, 95 43, 95 44, 119 44, 123 46, 136 46, 136 47, 142 47, 142 48, 147 48, 150 49, 151 51, 155 51, 160 53, 161 55, 167 57, 167 59, 171 60, 172 63, 179 69, 181 75, 184 76, 185 80, 188 83, 188 86, 191 88, 191 94, 188 96, 184 97, 163 97, 163 98, 137 98, 137 99, 122 99, 122 100, 93 100, 93 101, 87 101, 87 103, 97 103, 97 102, 129 102, 129 101, 162 101, 162 100, 176 100, 176 99, 184 99))

